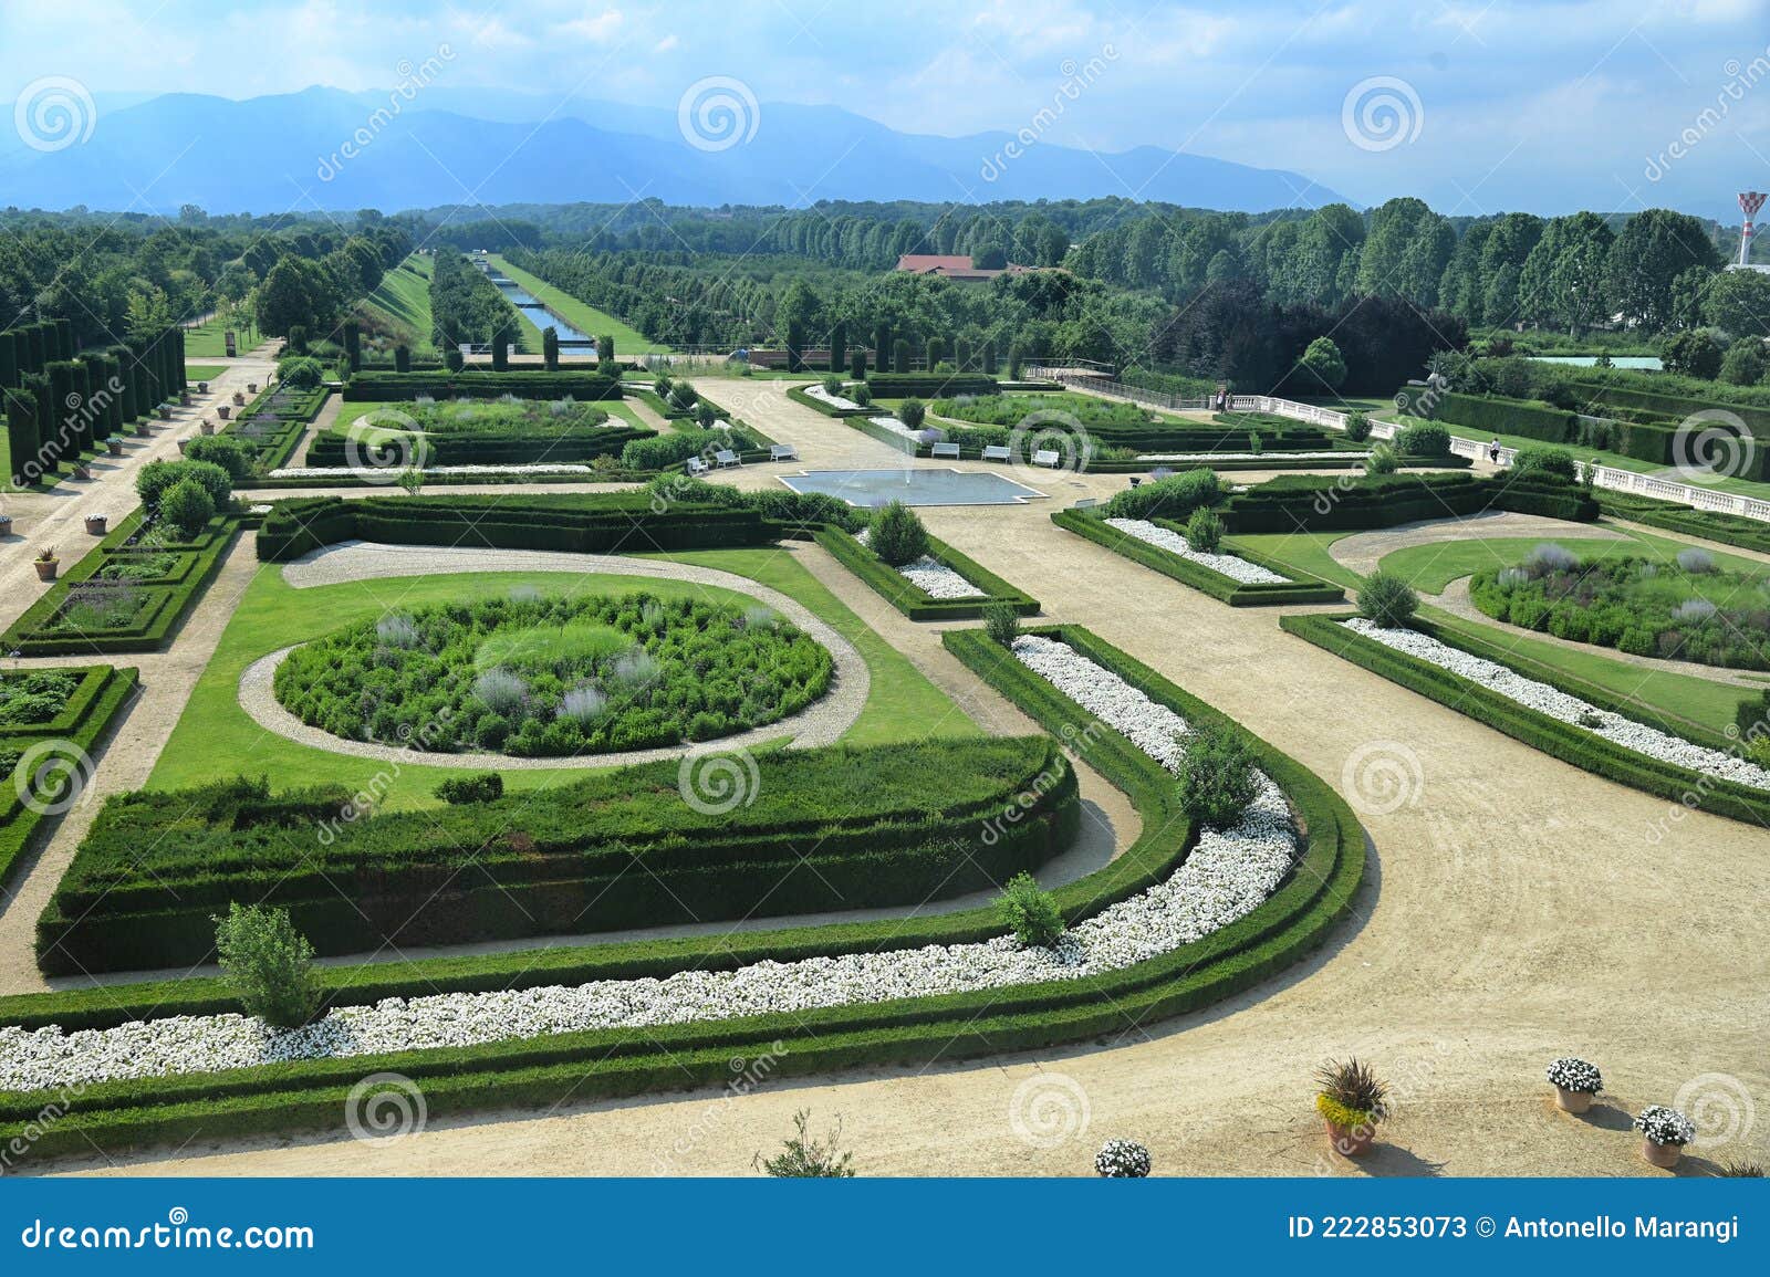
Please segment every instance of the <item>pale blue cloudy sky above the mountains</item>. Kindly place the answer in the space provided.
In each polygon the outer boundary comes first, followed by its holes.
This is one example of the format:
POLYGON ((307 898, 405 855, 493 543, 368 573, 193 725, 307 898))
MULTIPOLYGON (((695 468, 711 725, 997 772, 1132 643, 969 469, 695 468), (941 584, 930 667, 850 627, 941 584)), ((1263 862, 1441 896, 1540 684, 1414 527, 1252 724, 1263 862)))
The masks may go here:
POLYGON ((439 83, 674 110, 740 80, 947 136, 1158 145, 1448 214, 1683 207, 1770 187, 1770 0, 0 0, 0 97, 439 83), (101 37, 96 34, 103 34, 101 37), (1043 126, 1041 126, 1043 127, 1043 126))

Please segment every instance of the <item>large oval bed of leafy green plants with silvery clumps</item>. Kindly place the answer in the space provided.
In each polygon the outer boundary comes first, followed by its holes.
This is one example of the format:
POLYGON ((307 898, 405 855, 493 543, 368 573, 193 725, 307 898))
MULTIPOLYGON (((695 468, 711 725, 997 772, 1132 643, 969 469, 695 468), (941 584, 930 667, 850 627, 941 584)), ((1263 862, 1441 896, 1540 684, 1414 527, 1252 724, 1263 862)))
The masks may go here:
POLYGON ((543 759, 766 727, 832 672, 821 644, 759 603, 519 591, 345 626, 292 649, 273 686, 349 741, 543 759))

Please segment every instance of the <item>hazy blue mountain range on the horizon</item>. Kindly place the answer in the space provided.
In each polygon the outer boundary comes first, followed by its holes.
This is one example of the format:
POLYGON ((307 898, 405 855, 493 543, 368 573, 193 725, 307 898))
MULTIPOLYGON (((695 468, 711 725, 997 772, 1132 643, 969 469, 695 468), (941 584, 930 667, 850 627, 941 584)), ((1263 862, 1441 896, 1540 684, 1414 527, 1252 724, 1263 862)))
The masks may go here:
POLYGON ((1096 156, 1037 141, 1009 157, 1007 133, 908 134, 828 106, 763 103, 754 136, 724 150, 689 145, 674 111, 588 99, 558 104, 432 87, 398 115, 372 120, 386 106, 386 96, 336 88, 101 104, 80 145, 0 147, 0 198, 41 209, 173 212, 196 203, 255 214, 639 198, 805 205, 1108 195, 1260 212, 1342 198, 1297 173, 1159 147, 1096 156))

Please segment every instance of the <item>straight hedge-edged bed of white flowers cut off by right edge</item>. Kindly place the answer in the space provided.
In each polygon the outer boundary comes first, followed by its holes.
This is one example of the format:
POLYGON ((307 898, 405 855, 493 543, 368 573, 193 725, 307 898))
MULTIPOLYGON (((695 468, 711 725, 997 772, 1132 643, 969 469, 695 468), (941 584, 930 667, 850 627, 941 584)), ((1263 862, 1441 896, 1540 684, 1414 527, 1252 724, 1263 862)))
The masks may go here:
POLYGON ((1742 757, 1736 736, 1655 713, 1462 626, 1414 617, 1407 630, 1361 631, 1349 624, 1354 621, 1351 614, 1285 616, 1280 626, 1563 762, 1671 799, 1676 815, 1683 808, 1770 822, 1770 773, 1742 757), (1444 663, 1420 654, 1439 646, 1444 663), (1747 775, 1765 784, 1742 784, 1747 775))

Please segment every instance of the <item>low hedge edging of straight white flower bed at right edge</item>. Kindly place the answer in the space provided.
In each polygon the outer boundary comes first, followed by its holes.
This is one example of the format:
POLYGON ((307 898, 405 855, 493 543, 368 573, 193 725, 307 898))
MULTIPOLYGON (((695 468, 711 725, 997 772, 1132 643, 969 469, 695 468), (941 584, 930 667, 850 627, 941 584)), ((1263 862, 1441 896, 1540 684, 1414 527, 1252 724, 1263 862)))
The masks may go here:
MULTIPOLYGON (((1386 647, 1374 638, 1365 638, 1340 624, 1349 616, 1283 616, 1278 619, 1278 624, 1317 647, 1331 651, 1335 656, 1342 656, 1354 665, 1363 665, 1391 683, 1400 683, 1404 688, 1437 700, 1441 706, 1450 706, 1474 718, 1478 723, 1501 730, 1566 764, 1653 794, 1655 798, 1667 798, 1674 808, 1701 808, 1735 821, 1770 824, 1770 792, 1731 780, 1717 780, 1690 768, 1680 768, 1637 753, 1635 750, 1625 750, 1621 745, 1614 745, 1582 727, 1563 723, 1559 718, 1551 718, 1545 713, 1520 706, 1517 700, 1503 697, 1481 683, 1466 679, 1418 656, 1386 647)), ((1412 628, 1451 647, 1460 647, 1474 656, 1508 665, 1526 677, 1588 700, 1598 709, 1634 718, 1635 722, 1683 736, 1713 750, 1731 750, 1736 746, 1735 741, 1717 732, 1687 722, 1671 722, 1648 706, 1625 700, 1570 677, 1561 670, 1487 644, 1466 630, 1420 617, 1412 621, 1412 628)))

